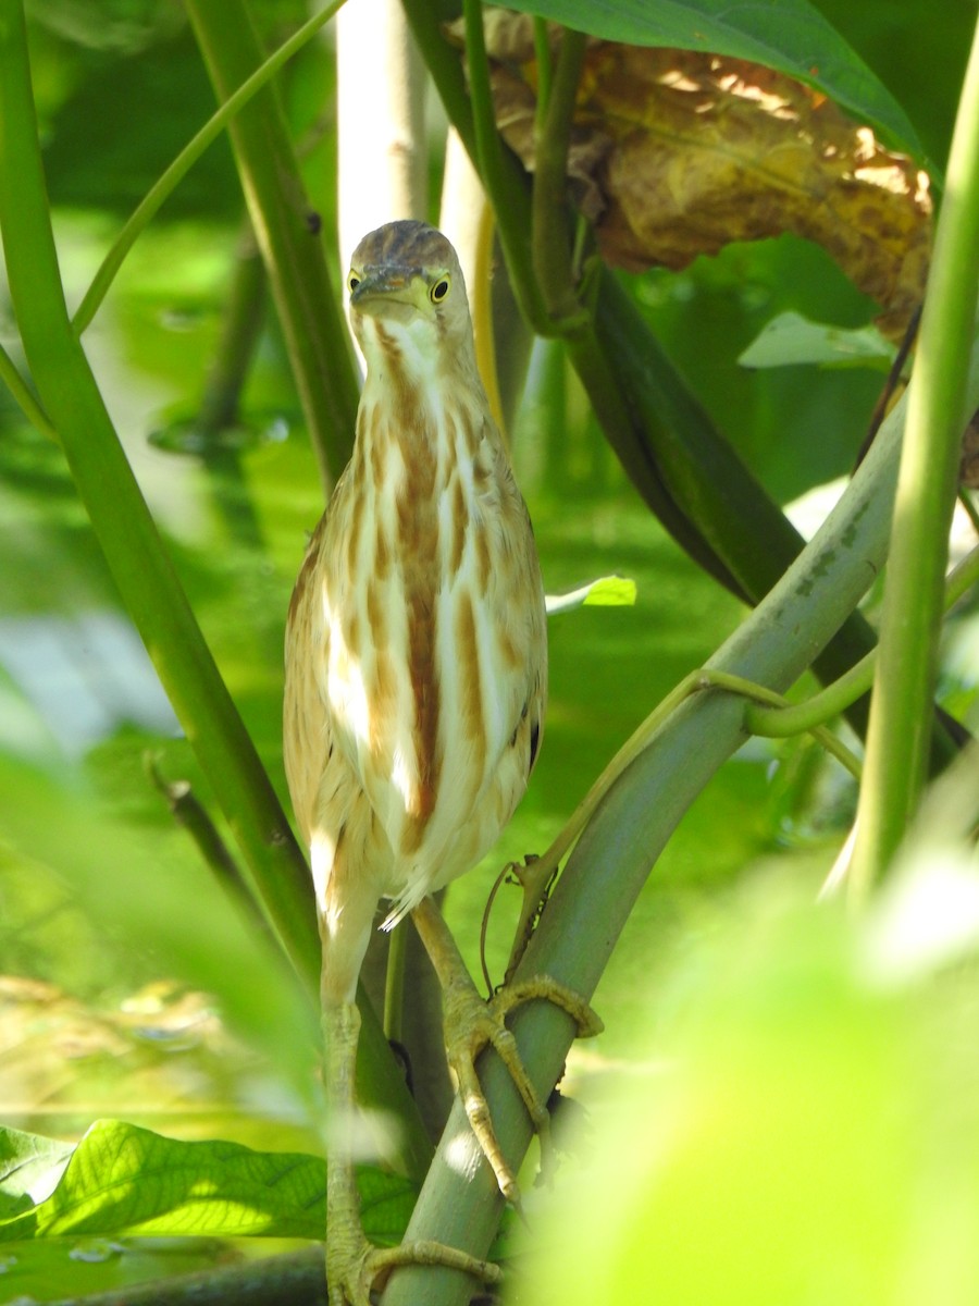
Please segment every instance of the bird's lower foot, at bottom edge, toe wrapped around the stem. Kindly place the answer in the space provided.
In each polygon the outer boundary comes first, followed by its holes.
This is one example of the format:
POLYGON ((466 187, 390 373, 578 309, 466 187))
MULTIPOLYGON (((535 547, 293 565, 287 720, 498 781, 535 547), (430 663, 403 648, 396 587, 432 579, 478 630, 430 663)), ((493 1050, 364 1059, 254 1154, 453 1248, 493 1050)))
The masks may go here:
POLYGON ((499 1284, 503 1271, 457 1247, 418 1239, 397 1247, 375 1247, 354 1220, 347 1228, 326 1228, 326 1290, 329 1306, 371 1306, 371 1290, 382 1288, 398 1266, 448 1266, 484 1284, 499 1284))

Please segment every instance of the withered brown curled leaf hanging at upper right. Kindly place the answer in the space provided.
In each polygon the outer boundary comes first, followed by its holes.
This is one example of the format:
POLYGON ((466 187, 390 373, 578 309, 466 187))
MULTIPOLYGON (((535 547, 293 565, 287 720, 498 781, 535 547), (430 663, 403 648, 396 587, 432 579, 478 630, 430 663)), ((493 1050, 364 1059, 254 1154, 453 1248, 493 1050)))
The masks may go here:
MULTIPOLYGON (((534 166, 536 64, 522 14, 487 27, 496 115, 534 166)), ((786 231, 822 246, 901 336, 928 272, 932 205, 914 159, 825 94, 761 64, 590 40, 569 174, 614 266, 685 268, 786 231)))

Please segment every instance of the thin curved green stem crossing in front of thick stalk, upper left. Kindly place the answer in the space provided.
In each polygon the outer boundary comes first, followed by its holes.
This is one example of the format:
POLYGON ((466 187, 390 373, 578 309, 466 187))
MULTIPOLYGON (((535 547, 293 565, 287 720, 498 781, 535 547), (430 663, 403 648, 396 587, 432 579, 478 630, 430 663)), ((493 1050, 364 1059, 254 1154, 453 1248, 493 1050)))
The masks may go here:
POLYGON ((127 255, 132 247, 138 240, 140 235, 145 231, 153 218, 161 209, 161 205, 174 193, 180 182, 187 176, 197 159, 204 154, 209 145, 211 145, 218 136, 226 129, 235 114, 240 112, 241 108, 262 89, 268 82, 275 76, 275 73, 286 64, 288 60, 298 54, 307 42, 316 35, 320 27, 324 26, 339 9, 343 0, 334 0, 333 4, 326 5, 320 13, 315 13, 312 18, 303 24, 292 35, 285 40, 274 54, 272 54, 260 68, 257 68, 251 77, 230 95, 221 108, 208 119, 204 127, 187 142, 187 145, 180 150, 178 157, 166 168, 166 171, 154 182, 146 195, 142 197, 140 204, 136 206, 134 213, 131 215, 123 230, 119 232, 116 239, 112 242, 106 257, 102 260, 98 272, 91 279, 91 285, 86 290, 81 304, 72 319, 72 325, 78 336, 81 336, 85 329, 91 323, 91 319, 99 311, 99 307, 108 294, 110 286, 116 278, 119 269, 123 266, 127 255))

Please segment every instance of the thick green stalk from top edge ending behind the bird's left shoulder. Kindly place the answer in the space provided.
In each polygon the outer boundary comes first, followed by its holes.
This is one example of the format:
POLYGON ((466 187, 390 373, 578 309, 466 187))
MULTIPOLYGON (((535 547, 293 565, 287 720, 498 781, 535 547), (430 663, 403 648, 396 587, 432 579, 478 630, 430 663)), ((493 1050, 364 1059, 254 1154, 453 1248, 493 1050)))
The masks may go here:
MULTIPOLYGON (((247 0, 185 0, 185 8, 215 94, 227 102, 265 61, 247 0)), ((328 491, 354 445, 359 380, 274 82, 239 108, 228 132, 328 491)))

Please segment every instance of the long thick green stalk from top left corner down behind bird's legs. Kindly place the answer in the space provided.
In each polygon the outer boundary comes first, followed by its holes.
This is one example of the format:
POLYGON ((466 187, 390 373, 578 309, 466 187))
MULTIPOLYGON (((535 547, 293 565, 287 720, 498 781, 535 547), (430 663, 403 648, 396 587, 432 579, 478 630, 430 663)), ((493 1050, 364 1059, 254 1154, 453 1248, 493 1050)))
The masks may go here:
MULTIPOLYGON (((30 80, 22 0, 0 0, 0 235, 42 430, 54 430, 125 609, 307 991, 319 989, 312 887, 275 791, 214 663, 106 410, 61 287, 30 80)), ((402 1162, 431 1147, 380 1025, 364 1015, 363 1101, 399 1118, 402 1162)))

